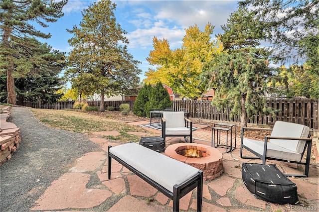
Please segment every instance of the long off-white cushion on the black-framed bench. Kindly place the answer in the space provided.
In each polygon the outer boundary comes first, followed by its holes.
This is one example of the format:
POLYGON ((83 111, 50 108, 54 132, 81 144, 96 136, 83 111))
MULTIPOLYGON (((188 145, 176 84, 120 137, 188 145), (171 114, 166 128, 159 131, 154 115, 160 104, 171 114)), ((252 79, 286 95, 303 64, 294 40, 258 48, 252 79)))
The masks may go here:
POLYGON ((110 153, 170 192, 173 192, 174 185, 189 180, 199 171, 190 165, 133 142, 112 147, 110 153))

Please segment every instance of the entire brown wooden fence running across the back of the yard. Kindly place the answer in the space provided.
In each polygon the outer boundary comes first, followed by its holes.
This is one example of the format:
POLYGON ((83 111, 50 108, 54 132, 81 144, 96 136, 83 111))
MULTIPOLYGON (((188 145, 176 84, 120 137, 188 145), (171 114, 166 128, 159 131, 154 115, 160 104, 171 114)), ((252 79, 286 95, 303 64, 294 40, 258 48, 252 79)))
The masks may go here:
MULTIPOLYGON (((268 99, 268 106, 274 109, 280 110, 276 113, 276 117, 271 115, 256 114, 253 118, 247 120, 247 123, 251 124, 269 124, 276 120, 294 122, 307 125, 311 128, 319 129, 319 103, 318 99, 268 99)), ((45 108, 45 109, 71 109, 74 105, 74 101, 59 101, 54 104, 41 104, 24 102, 23 106, 29 106, 33 108, 45 108)), ((99 101, 88 101, 89 106, 100 107, 99 101)), ((133 109, 134 101, 107 101, 104 103, 104 107, 113 106, 116 110, 119 109, 121 104, 129 104, 133 109)), ((230 118, 230 111, 232 108, 226 107, 218 110, 216 106, 211 105, 211 101, 191 101, 191 100, 178 100, 172 103, 174 110, 179 108, 186 108, 189 111, 190 118, 217 120, 217 121, 232 121, 241 122, 240 115, 236 115, 230 118)))

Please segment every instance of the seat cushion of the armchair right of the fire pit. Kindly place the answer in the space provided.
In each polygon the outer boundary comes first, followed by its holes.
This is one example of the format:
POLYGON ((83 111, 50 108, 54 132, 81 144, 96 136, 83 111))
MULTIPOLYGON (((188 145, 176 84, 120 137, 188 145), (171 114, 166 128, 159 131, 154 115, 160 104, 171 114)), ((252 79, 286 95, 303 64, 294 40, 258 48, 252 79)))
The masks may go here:
MULTIPOLYGON (((264 155, 264 141, 244 138, 243 145, 249 147, 250 149, 261 155, 264 155)), ((302 160, 301 153, 291 151, 270 142, 268 142, 267 144, 267 157, 299 162, 302 160)))

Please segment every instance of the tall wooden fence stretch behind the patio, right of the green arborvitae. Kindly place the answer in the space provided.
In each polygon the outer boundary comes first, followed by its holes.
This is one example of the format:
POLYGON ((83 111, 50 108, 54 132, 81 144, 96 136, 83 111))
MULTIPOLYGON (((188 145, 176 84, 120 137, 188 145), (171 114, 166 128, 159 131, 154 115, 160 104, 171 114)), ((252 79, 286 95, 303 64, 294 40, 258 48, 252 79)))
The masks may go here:
MULTIPOLYGON (((276 120, 293 122, 307 125, 311 128, 319 128, 319 104, 318 99, 267 99, 268 106, 276 110, 276 117, 272 115, 256 114, 252 118, 247 119, 247 123, 252 124, 268 124, 276 120)), ((218 120, 218 121, 233 121, 241 122, 240 115, 235 115, 230 118, 232 108, 226 107, 220 110, 216 106, 211 105, 211 101, 174 101, 174 110, 186 108, 190 114, 189 117, 218 120)))

